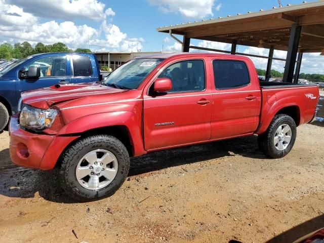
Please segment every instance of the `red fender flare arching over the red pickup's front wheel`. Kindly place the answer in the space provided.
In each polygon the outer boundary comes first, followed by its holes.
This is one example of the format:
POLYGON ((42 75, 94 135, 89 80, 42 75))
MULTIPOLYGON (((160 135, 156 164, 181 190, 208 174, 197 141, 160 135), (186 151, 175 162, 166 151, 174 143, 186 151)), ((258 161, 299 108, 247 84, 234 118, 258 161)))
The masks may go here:
POLYGON ((134 149, 134 156, 146 153, 141 133, 141 120, 131 111, 95 113, 79 117, 66 124, 58 136, 82 134, 90 130, 112 126, 125 126, 134 149))

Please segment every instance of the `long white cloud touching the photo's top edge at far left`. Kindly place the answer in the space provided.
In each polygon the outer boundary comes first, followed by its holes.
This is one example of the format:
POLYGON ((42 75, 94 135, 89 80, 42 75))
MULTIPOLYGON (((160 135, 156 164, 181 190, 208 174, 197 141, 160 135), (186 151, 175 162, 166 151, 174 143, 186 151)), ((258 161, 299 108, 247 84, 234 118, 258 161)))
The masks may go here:
POLYGON ((111 8, 104 10, 105 4, 98 0, 8 0, 7 2, 20 6, 34 16, 51 19, 87 18, 100 21, 107 16, 115 15, 111 8))

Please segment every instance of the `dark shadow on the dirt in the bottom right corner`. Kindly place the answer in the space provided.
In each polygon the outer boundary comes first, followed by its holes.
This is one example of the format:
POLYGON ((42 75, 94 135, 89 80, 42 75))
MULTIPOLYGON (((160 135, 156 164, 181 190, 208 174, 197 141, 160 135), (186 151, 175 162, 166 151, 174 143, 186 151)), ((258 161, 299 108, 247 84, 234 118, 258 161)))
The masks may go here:
POLYGON ((294 242, 295 240, 323 227, 324 215, 320 215, 275 236, 268 240, 267 243, 294 242))

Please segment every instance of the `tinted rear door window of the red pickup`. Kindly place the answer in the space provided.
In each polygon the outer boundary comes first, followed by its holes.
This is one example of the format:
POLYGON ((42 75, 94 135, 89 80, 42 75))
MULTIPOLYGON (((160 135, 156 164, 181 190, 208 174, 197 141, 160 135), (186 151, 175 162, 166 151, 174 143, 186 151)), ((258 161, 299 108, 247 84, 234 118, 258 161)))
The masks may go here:
POLYGON ((250 84, 245 62, 214 60, 213 69, 216 89, 232 89, 250 84))

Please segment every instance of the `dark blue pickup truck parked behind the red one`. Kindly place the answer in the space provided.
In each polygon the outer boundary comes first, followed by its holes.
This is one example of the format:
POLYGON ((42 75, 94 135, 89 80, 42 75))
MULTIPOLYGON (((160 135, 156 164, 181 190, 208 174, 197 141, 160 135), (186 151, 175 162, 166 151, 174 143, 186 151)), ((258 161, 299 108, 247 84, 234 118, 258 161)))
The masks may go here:
POLYGON ((18 109, 24 91, 56 84, 100 81, 96 55, 91 53, 43 53, 17 60, 0 71, 0 132, 18 109))

